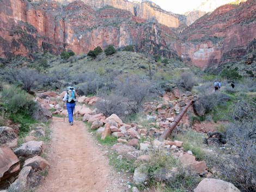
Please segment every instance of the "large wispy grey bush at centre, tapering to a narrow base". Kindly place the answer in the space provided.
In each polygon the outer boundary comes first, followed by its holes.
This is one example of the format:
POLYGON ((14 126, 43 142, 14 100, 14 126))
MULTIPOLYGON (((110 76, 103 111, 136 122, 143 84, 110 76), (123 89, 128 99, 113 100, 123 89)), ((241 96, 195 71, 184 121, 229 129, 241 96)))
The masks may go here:
POLYGON ((142 109, 142 104, 146 98, 149 98, 152 88, 148 79, 138 76, 125 75, 119 77, 116 81, 117 95, 128 98, 128 109, 131 113, 138 113, 142 109))

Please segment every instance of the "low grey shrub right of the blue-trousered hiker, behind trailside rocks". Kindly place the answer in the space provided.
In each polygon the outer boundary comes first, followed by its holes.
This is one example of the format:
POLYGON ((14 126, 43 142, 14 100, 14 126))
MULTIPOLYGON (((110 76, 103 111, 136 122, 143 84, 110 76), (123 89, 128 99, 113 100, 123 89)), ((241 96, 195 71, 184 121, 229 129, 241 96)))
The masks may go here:
POLYGON ((103 113, 105 116, 117 114, 119 117, 123 117, 127 110, 124 98, 113 94, 96 102, 95 107, 99 113, 103 113))

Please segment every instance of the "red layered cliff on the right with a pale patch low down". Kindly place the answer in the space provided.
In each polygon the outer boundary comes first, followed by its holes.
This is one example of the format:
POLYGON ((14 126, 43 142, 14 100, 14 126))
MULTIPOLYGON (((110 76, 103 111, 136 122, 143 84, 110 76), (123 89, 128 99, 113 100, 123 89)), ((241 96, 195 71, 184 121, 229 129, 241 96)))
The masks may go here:
POLYGON ((178 54, 201 68, 237 61, 256 38, 256 2, 223 5, 186 28, 178 54))

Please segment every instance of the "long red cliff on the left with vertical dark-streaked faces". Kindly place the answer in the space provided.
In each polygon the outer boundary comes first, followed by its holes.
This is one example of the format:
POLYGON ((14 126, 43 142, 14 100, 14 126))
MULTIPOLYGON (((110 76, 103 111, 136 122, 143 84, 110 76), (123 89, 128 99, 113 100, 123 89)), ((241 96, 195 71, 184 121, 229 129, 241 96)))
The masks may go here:
MULTIPOLYGON (((0 57, 32 57, 33 52, 60 53, 71 49, 76 54, 88 53, 96 46, 123 47, 137 45, 151 54, 176 55, 166 49, 161 24, 145 22, 129 11, 106 8, 94 11, 81 1, 61 6, 57 2, 31 4, 5 0, 1 7, 0 57), (164 50, 164 51, 163 51, 164 50)), ((176 38, 165 27, 166 33, 176 38)))

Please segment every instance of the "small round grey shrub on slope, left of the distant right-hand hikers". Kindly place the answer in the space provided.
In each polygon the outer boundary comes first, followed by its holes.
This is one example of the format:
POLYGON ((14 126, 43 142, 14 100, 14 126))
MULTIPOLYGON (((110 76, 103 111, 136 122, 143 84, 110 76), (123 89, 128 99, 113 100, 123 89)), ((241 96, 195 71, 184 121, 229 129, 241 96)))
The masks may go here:
POLYGON ((192 73, 184 72, 184 73, 181 73, 178 79, 176 79, 175 84, 177 86, 182 86, 188 91, 191 91, 193 86, 196 84, 196 78, 192 73))

